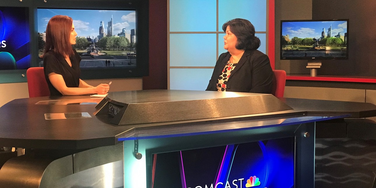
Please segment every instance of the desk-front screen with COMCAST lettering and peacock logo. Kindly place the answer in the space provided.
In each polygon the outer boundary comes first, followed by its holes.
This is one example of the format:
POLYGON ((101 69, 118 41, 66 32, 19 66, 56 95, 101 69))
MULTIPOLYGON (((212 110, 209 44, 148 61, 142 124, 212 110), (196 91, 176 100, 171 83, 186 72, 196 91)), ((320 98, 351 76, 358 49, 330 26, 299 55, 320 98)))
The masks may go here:
POLYGON ((209 147, 154 156, 154 188, 294 187, 294 138, 209 147), (180 176, 164 173, 165 170, 180 176), (198 173, 199 172, 199 173, 198 173), (167 175, 166 175, 167 174, 167 175), (173 178, 174 177, 174 178, 173 178))

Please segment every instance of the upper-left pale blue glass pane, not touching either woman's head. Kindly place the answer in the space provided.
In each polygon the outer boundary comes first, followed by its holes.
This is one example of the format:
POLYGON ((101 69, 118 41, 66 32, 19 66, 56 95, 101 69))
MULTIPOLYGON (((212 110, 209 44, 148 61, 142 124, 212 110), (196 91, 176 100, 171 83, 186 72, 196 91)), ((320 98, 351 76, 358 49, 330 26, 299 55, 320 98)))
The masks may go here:
POLYGON ((170 31, 216 31, 216 0, 170 0, 170 31))

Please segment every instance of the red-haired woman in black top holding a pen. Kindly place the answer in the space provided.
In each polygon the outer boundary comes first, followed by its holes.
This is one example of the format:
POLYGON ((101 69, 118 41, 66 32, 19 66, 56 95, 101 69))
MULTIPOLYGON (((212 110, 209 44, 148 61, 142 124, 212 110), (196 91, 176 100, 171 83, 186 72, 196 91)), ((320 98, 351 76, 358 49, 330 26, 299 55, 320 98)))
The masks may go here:
POLYGON ((72 48, 76 36, 71 17, 56 15, 47 24, 43 66, 50 95, 106 94, 108 84, 94 87, 80 79, 81 57, 72 48))

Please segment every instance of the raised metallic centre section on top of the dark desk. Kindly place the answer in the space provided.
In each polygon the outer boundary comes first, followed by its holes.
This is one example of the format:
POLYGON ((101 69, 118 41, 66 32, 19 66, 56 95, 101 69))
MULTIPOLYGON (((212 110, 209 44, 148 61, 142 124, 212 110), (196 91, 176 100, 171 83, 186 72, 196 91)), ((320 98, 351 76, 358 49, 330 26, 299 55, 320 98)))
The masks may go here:
POLYGON ((112 92, 96 108, 96 115, 110 113, 118 125, 293 110, 271 94, 185 90, 112 92))

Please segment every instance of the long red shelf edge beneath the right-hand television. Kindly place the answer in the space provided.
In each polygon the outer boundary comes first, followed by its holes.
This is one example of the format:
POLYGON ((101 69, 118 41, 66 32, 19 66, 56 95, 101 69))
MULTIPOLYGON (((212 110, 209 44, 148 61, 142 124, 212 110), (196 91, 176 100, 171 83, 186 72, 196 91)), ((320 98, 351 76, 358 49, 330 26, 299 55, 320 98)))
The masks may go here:
POLYGON ((376 77, 331 75, 317 75, 317 77, 311 77, 309 74, 287 74, 286 80, 376 83, 376 77))

